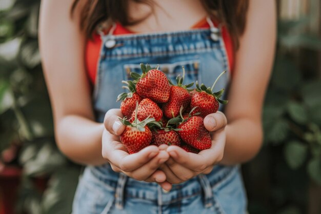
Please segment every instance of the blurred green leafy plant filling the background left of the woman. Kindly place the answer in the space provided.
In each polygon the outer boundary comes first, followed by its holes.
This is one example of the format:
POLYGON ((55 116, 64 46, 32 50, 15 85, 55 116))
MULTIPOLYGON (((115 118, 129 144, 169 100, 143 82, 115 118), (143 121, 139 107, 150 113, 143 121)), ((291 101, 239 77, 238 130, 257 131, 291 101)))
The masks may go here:
POLYGON ((70 213, 79 167, 57 149, 37 43, 39 0, 0 6, 0 152, 15 144, 19 211, 70 213), (44 183, 39 187, 39 183, 44 183))

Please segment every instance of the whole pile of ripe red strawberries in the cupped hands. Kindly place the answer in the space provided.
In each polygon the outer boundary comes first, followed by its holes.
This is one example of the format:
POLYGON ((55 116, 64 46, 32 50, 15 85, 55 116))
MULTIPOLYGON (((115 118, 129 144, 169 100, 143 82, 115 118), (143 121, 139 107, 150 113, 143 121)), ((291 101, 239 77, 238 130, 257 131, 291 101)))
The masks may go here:
POLYGON ((128 93, 118 95, 126 129, 121 135, 128 152, 135 153, 148 145, 177 145, 188 152, 198 153, 211 147, 210 133, 203 124, 204 117, 218 110, 224 89, 212 92, 213 86, 194 83, 183 85, 183 76, 176 77, 177 85, 165 73, 141 64, 142 75, 131 72, 133 81, 123 81, 128 93))

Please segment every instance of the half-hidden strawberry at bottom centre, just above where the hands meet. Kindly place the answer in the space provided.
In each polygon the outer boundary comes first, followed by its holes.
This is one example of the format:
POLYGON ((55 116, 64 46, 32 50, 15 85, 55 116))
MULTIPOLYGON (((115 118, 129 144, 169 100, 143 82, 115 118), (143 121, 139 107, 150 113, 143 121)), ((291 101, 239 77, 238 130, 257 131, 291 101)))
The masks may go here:
POLYGON ((153 138, 152 144, 160 146, 161 144, 167 145, 180 145, 180 138, 176 131, 170 129, 160 129, 152 131, 153 138))

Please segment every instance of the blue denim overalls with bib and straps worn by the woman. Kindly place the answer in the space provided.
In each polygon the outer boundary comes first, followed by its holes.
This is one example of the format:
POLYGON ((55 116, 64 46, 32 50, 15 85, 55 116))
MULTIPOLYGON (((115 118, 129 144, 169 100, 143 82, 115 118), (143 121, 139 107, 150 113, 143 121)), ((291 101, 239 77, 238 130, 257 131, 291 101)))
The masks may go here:
MULTIPOLYGON (((116 98, 124 92, 121 81, 130 79, 131 71, 141 73, 139 63, 159 64, 172 82, 184 66, 185 84, 198 80, 208 87, 227 70, 214 90, 228 87, 230 69, 221 30, 208 22, 210 29, 114 36, 113 27, 102 35, 93 95, 97 122, 103 122, 109 109, 119 108, 116 98)), ((105 164, 85 168, 73 214, 242 214, 246 206, 238 166, 216 165, 210 174, 200 174, 165 192, 156 183, 136 181, 105 164)))

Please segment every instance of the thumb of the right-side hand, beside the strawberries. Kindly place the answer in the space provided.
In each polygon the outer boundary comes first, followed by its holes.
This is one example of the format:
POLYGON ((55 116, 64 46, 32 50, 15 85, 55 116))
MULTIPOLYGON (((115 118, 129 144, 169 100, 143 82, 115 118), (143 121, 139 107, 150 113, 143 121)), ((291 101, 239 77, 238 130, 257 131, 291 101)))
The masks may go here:
POLYGON ((204 118, 204 126, 208 131, 216 131, 218 129, 224 128, 226 125, 227 125, 226 116, 221 111, 208 114, 204 118))

